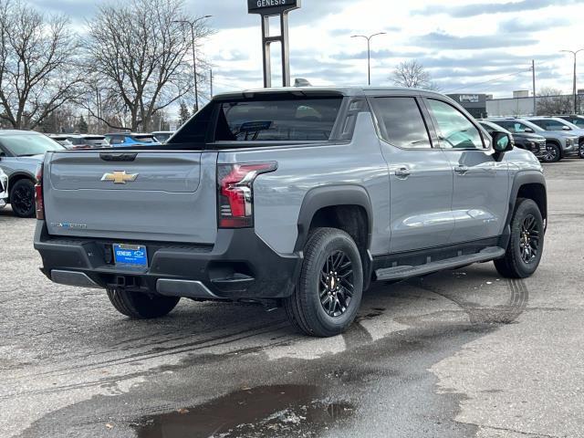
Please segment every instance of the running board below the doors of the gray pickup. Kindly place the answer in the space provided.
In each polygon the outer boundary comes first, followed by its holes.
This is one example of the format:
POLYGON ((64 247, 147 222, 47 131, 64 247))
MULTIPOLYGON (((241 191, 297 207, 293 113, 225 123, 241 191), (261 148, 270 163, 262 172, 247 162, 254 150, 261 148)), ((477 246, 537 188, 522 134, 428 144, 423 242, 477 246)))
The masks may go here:
POLYGON ((384 267, 376 270, 375 276, 381 281, 403 280, 412 276, 425 276, 445 269, 470 265, 471 263, 489 262, 504 255, 504 248, 499 246, 489 246, 475 254, 459 255, 458 257, 430 262, 421 266, 384 267))

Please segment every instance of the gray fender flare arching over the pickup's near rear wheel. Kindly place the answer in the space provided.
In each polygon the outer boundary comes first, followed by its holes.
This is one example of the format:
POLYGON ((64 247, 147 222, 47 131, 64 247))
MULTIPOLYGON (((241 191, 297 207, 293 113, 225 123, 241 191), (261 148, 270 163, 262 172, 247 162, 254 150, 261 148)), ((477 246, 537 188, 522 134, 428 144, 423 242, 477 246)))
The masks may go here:
POLYGON ((297 241, 294 247, 295 252, 302 251, 308 240, 308 231, 314 215, 321 208, 337 205, 359 205, 363 207, 368 220, 367 248, 371 245, 371 235, 373 229, 373 214, 369 193, 355 184, 326 185, 310 189, 304 196, 297 222, 297 241))

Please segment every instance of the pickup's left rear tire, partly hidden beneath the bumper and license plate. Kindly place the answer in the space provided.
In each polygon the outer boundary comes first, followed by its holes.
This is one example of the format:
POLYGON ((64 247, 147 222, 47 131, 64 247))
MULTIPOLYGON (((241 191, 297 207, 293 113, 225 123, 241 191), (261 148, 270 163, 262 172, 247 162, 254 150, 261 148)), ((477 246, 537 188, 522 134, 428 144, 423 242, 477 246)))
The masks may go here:
POLYGON ((153 297, 141 292, 108 288, 108 297, 116 310, 134 319, 161 318, 171 313, 179 297, 153 297))

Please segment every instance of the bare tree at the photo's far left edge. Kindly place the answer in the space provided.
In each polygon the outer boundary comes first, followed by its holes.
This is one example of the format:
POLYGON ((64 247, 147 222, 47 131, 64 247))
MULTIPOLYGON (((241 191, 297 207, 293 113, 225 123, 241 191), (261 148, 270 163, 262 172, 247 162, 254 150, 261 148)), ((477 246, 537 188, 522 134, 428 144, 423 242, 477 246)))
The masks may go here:
POLYGON ((34 129, 76 99, 77 55, 68 18, 46 18, 21 0, 0 0, 0 118, 15 129, 34 129))

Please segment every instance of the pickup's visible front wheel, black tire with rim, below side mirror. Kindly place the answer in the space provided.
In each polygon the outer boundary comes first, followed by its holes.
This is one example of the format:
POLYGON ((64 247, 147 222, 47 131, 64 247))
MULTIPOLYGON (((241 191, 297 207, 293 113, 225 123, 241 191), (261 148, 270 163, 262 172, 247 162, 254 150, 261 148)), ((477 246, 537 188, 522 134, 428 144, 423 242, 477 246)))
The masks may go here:
POLYGON ((507 278, 532 276, 541 261, 544 237, 544 221, 537 203, 531 199, 517 199, 506 255, 495 260, 499 274, 507 278), (533 229, 526 235, 527 223, 532 224, 533 229))

